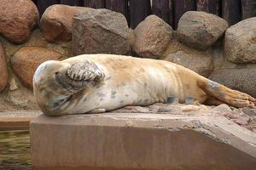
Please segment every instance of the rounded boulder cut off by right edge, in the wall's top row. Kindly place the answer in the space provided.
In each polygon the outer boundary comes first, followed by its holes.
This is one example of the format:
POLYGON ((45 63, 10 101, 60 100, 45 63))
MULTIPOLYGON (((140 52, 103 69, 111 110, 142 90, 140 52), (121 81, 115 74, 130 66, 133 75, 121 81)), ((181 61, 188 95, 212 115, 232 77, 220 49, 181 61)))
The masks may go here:
POLYGON ((236 63, 256 63, 256 17, 242 20, 225 33, 224 54, 236 63))

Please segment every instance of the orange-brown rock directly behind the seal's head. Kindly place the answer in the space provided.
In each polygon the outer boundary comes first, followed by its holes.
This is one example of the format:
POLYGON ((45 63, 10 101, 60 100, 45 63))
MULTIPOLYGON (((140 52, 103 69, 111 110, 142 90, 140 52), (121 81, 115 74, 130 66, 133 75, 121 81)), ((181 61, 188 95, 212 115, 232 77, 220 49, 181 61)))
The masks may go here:
POLYGON ((24 86, 32 89, 32 77, 38 65, 46 60, 61 59, 64 59, 62 54, 47 48, 23 47, 15 53, 11 65, 24 86))

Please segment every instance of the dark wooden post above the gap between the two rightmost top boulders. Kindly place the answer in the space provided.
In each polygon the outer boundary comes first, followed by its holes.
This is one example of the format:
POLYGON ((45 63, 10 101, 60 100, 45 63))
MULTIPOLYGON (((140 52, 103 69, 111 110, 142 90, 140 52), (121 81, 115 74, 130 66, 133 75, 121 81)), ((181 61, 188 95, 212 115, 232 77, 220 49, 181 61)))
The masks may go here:
POLYGON ((222 0, 222 18, 232 26, 241 20, 241 0, 222 0))

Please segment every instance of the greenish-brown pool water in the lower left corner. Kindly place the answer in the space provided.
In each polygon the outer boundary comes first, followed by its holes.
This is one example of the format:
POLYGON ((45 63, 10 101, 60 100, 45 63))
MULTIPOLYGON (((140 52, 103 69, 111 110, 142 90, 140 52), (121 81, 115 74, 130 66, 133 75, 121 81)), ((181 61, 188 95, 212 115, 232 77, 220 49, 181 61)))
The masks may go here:
POLYGON ((29 131, 0 131, 0 169, 31 169, 29 131))

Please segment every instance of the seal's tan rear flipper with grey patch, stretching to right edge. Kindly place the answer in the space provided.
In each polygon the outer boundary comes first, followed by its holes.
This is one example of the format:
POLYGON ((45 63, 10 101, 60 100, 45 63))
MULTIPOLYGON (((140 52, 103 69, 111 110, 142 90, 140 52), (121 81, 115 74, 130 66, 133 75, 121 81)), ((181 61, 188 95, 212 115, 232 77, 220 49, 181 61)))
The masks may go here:
POLYGON ((256 105, 256 99, 252 96, 227 88, 224 85, 218 84, 218 82, 212 82, 203 78, 197 83, 205 93, 226 104, 235 107, 253 107, 256 105))

